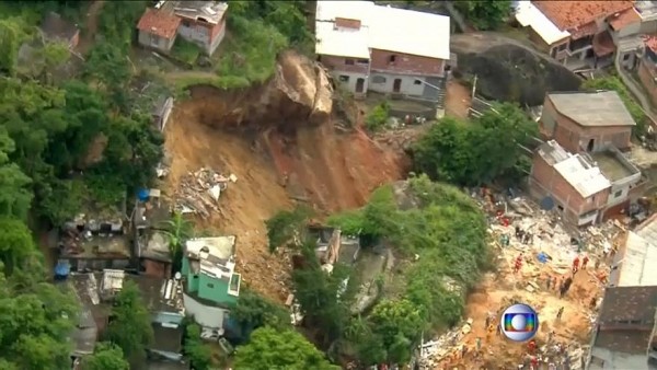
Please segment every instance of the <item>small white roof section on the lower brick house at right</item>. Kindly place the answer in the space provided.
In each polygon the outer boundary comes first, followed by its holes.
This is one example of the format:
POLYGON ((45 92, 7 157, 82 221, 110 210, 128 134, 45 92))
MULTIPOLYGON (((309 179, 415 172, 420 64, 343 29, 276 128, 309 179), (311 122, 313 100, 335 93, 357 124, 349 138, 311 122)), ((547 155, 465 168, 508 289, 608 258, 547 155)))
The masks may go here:
POLYGON ((566 160, 554 164, 554 169, 584 198, 611 187, 611 182, 600 169, 579 154, 570 154, 566 160))

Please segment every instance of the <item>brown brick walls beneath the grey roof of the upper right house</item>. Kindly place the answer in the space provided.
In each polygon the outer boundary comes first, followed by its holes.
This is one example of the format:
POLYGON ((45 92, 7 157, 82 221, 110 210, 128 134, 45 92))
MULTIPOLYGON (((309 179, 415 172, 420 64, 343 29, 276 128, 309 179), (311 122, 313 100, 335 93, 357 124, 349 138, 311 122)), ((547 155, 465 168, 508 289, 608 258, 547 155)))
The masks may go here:
POLYGON ((583 127, 553 109, 549 100, 545 100, 545 103, 549 108, 543 109, 543 115, 545 115, 543 119, 553 118, 556 122, 553 138, 567 151, 573 153, 586 151, 591 139, 593 140, 593 150, 602 149, 610 143, 620 150, 630 148, 631 126, 583 127))

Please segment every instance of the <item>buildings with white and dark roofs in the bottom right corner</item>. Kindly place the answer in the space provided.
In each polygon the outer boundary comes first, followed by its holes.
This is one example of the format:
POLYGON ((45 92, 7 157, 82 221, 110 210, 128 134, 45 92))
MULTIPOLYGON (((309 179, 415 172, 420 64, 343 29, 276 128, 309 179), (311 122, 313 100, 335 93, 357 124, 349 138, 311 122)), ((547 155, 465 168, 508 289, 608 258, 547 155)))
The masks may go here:
POLYGON ((629 231, 613 257, 586 369, 657 368, 656 217, 629 231))

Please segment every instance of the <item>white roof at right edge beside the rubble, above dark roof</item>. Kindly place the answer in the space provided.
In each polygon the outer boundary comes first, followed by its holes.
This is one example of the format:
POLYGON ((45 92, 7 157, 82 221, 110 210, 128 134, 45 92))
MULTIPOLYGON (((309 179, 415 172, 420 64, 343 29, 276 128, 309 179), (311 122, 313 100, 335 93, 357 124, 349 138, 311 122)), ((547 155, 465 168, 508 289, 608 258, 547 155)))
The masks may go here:
MULTIPOLYGON (((649 232, 652 233, 653 230, 649 232)), ((655 236, 650 236, 644 230, 630 231, 625 242, 625 253, 618 263, 618 287, 657 286, 657 269, 654 269, 654 266, 657 266, 655 242, 657 242, 655 236)))

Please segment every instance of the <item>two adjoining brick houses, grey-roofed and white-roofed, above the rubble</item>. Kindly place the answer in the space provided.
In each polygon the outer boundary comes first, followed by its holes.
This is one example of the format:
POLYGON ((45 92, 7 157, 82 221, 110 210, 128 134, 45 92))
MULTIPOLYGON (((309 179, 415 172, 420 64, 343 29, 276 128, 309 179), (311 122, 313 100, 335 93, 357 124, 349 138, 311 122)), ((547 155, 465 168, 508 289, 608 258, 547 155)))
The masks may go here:
POLYGON ((539 123, 549 141, 534 153, 530 190, 566 222, 597 223, 641 196, 642 173, 622 152, 635 123, 618 93, 549 93, 539 123))

